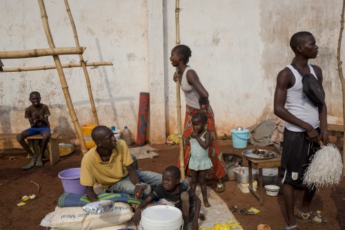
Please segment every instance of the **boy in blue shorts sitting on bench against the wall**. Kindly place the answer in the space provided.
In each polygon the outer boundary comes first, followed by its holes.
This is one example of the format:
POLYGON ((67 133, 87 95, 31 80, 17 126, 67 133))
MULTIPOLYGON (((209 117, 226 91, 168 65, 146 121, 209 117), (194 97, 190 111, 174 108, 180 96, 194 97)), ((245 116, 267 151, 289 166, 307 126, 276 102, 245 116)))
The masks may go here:
POLYGON ((31 127, 17 135, 19 144, 21 144, 21 146, 23 146, 23 148, 31 156, 30 164, 24 165, 22 169, 31 169, 34 166, 43 166, 42 157, 44 155, 44 151, 46 151, 46 147, 50 138, 50 127, 48 122, 50 111, 48 106, 46 106, 45 104, 41 104, 41 95, 37 91, 33 91, 30 93, 29 100, 32 105, 25 109, 25 118, 29 119, 31 127), (25 139, 28 136, 36 135, 39 133, 42 135, 42 145, 39 155, 36 156, 34 155, 34 153, 32 153, 25 139))

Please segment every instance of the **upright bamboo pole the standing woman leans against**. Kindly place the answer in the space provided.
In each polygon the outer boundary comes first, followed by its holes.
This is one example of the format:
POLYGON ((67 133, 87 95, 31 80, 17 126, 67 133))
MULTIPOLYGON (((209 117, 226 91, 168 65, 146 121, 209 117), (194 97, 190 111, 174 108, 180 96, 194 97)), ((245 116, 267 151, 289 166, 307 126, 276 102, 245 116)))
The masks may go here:
MULTIPOLYGON (((176 23, 176 45, 179 45, 179 0, 176 0, 175 7, 175 23, 176 23)), ((178 69, 176 68, 176 73, 178 69)), ((184 142, 182 139, 182 122, 181 122, 181 95, 179 81, 176 82, 176 107, 177 107, 177 128, 179 131, 179 171, 181 171, 181 178, 184 180, 186 167, 184 165, 184 142)))

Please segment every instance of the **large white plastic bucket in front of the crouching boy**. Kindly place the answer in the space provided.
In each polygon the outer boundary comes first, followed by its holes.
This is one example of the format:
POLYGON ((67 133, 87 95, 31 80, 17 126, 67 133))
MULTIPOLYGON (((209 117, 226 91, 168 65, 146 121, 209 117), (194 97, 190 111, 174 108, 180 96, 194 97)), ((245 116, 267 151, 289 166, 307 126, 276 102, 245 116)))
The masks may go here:
POLYGON ((183 225, 182 212, 175 207, 157 205, 141 213, 141 230, 180 230, 183 225))

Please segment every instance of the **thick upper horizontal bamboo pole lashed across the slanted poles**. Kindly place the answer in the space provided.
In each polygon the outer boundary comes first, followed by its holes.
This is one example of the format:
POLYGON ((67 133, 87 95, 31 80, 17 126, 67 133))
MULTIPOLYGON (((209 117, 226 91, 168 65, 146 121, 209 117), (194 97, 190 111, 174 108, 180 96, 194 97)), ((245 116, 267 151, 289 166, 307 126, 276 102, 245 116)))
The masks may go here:
POLYGON ((46 48, 34 50, 0 51, 2 59, 41 57, 52 55, 80 55, 85 47, 46 48))

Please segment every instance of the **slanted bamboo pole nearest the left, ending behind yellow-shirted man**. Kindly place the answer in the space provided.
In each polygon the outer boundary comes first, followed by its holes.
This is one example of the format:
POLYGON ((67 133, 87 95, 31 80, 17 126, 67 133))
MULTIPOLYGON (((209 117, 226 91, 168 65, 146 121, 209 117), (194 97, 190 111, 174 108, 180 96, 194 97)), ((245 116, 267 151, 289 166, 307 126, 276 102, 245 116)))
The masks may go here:
MULTIPOLYGON (((41 12, 41 19, 43 22, 44 32, 46 32, 46 37, 48 40, 49 47, 55 48, 55 44, 54 44, 54 41, 52 40, 52 34, 50 32, 50 27, 48 23, 46 7, 44 6, 43 0, 38 0, 38 1, 39 1, 39 10, 41 12)), ((77 115, 75 113, 75 108, 73 108, 72 99, 70 99, 70 92, 68 91, 68 85, 66 82, 65 74, 63 73, 61 61, 58 55, 52 55, 52 57, 54 58, 55 65, 57 66, 57 73, 59 73, 61 88, 63 90, 63 95, 65 96, 65 99, 66 99, 66 104, 67 104, 68 111, 70 112, 70 117, 75 126, 75 131, 77 132, 77 136, 79 138, 81 151, 83 153, 86 153, 88 151, 88 148, 86 147, 85 140, 83 138, 83 133, 81 132, 81 127, 78 122, 77 115)))

